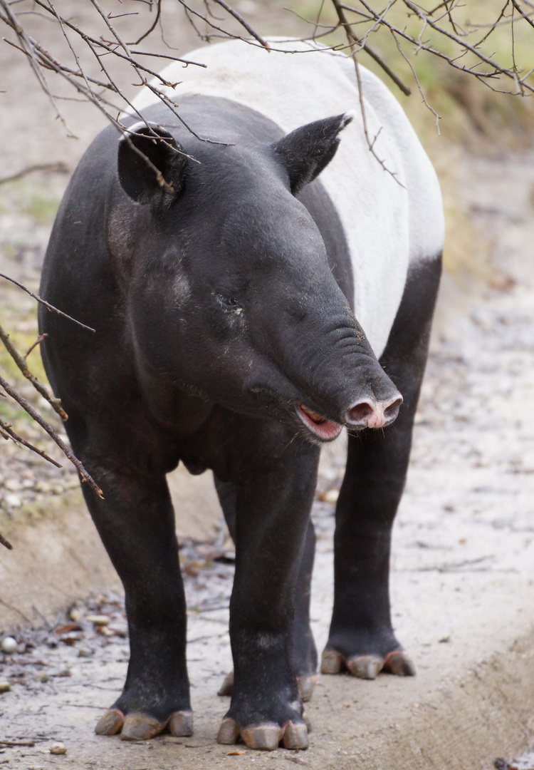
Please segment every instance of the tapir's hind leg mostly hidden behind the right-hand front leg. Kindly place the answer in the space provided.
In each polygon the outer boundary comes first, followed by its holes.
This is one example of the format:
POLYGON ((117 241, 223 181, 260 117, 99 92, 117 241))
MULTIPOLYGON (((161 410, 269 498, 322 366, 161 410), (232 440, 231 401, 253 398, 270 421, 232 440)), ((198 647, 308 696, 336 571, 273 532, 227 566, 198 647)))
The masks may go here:
MULTIPOLYGON (((215 489, 219 495, 225 521, 229 528, 230 536, 235 542, 235 502, 237 487, 231 482, 219 481, 215 478, 215 489)), ((302 701, 312 698, 313 688, 317 680, 317 649, 313 640, 312 629, 309 625, 309 604, 311 598, 311 584, 313 560, 315 557, 315 530, 312 521, 309 521, 303 544, 302 558, 299 567, 299 577, 295 584, 295 623, 293 637, 293 660, 295 664, 295 676, 299 686, 299 695, 302 701)), ((234 672, 230 671, 222 682, 218 695, 232 695, 234 688, 234 672)))

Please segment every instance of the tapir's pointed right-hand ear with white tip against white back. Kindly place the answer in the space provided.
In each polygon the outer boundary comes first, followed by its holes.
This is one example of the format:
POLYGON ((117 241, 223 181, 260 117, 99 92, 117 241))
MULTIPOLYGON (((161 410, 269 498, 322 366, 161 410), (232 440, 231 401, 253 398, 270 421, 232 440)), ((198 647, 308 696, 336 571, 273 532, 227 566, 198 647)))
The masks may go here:
POLYGON ((334 118, 315 120, 295 129, 272 145, 275 155, 281 159, 289 174, 293 195, 328 166, 338 149, 339 133, 351 122, 352 117, 351 112, 345 112, 334 118))

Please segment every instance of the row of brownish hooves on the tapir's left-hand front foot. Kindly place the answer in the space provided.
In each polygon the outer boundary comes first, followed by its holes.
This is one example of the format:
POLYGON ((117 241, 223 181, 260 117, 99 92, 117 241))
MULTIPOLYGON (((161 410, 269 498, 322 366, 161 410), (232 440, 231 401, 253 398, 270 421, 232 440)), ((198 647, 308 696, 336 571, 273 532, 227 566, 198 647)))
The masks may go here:
POLYGON ((166 728, 171 735, 187 736, 193 733, 192 711, 173 711, 166 721, 158 721, 149 714, 134 712, 124 715, 118 708, 109 708, 98 720, 97 735, 117 735, 122 741, 148 741, 166 728))

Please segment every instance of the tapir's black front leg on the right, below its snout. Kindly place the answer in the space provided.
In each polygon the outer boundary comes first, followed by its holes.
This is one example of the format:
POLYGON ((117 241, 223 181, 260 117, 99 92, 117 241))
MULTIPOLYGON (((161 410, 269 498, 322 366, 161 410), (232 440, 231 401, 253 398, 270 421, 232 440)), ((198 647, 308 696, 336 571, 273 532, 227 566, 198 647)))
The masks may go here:
POLYGON ((230 604, 235 680, 219 743, 241 736, 250 748, 308 745, 293 662, 294 588, 319 450, 295 444, 238 484, 230 604))

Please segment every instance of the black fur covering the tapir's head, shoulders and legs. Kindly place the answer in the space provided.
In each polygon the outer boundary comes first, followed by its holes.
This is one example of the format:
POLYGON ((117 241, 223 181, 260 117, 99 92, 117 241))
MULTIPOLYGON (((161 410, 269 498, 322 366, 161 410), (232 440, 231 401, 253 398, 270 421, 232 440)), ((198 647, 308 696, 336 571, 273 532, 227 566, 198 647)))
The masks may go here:
POLYGON ((402 649, 389 614, 389 544, 439 256, 409 273, 379 363, 349 307, 342 226, 320 178, 308 183, 334 155, 342 116, 284 139, 268 119, 225 99, 185 97, 180 115, 232 143, 200 142, 159 105, 145 119, 162 140, 141 136, 145 127, 119 141, 109 127, 80 162, 41 293, 96 331, 42 310, 45 368, 73 450, 104 492, 100 500, 83 485, 125 587, 131 658, 115 708, 161 724, 190 708, 165 482, 182 460, 192 473, 213 471, 236 545, 229 716, 242 730, 302 725, 295 674, 317 666, 309 513, 319 442, 295 404, 342 424, 359 399, 385 400, 395 388, 404 398, 395 423, 349 437, 336 510, 327 648, 346 659, 386 658, 402 649), (174 142, 199 162, 176 154, 174 142))

